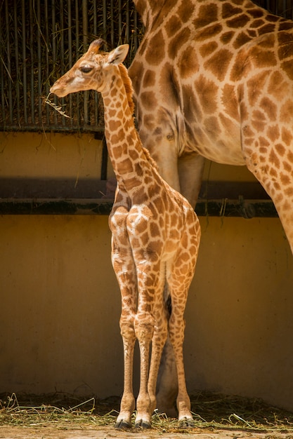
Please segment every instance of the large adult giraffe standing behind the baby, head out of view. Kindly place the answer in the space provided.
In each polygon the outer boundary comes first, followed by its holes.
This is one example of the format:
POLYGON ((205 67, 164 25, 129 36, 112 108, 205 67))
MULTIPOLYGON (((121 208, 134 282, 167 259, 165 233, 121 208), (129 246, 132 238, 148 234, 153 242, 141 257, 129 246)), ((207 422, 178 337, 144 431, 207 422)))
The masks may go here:
MULTIPOLYGON (((246 165, 293 250, 293 22, 249 0, 134 3, 145 35, 129 74, 159 172, 195 206, 204 158, 246 165)), ((165 361, 157 402, 168 412, 176 381, 165 361)))

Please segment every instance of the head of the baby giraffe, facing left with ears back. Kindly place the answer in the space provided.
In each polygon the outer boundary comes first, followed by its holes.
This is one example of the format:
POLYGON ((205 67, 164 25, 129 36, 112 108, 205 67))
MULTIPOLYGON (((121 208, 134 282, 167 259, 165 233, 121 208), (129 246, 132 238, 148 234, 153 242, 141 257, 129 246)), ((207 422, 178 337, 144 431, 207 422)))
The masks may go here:
POLYGON ((82 90, 103 91, 110 86, 112 66, 119 65, 125 60, 129 45, 123 44, 110 53, 105 53, 100 51, 103 43, 102 39, 93 41, 82 58, 79 58, 74 66, 53 84, 50 92, 58 97, 64 97, 82 90))

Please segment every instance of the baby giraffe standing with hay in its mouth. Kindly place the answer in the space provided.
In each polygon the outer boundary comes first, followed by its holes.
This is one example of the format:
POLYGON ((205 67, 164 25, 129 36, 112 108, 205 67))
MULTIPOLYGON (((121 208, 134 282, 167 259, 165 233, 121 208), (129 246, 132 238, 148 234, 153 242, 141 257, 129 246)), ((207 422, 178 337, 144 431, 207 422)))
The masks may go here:
POLYGON ((200 223, 188 201, 159 176, 134 125, 132 85, 122 62, 129 46, 89 50, 51 87, 59 97, 79 90, 97 90, 105 107, 105 137, 117 177, 109 224, 112 265, 122 295, 120 329, 124 344, 124 393, 117 428, 131 427, 134 344, 141 353, 141 381, 136 401, 136 426, 150 427, 156 407, 159 361, 167 335, 174 346, 178 374, 178 419, 192 425, 183 364, 183 317, 200 243, 200 223), (164 295, 171 296, 168 318, 164 295), (152 346, 149 362, 150 344, 152 346), (150 363, 150 364, 149 364, 150 363))

